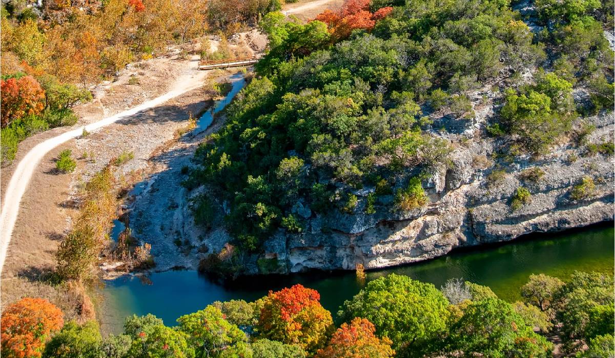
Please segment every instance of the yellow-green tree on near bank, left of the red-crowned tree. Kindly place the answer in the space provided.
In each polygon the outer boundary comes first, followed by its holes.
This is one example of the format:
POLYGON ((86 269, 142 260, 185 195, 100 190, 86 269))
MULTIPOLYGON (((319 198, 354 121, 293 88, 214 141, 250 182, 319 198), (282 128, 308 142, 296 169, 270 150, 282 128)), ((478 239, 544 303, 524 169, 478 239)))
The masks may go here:
POLYGON ((186 333, 188 344, 198 357, 218 357, 247 337, 236 325, 230 324, 215 306, 207 306, 177 319, 178 330, 186 333))

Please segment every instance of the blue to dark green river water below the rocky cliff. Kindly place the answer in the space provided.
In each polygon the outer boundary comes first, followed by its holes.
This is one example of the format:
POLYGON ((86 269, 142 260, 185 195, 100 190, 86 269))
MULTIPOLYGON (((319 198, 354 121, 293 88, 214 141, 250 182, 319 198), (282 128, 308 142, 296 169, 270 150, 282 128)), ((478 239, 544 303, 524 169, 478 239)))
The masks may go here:
MULTIPOLYGON (((429 262, 367 273, 367 281, 390 273, 404 274, 440 287, 450 278, 491 287, 504 300, 520 298, 518 289, 533 273, 566 279, 575 270, 613 272, 613 223, 574 232, 544 234, 501 246, 457 251, 429 262)), ((301 283, 320 292, 322 305, 335 316, 339 305, 361 289, 353 272, 295 274, 284 277, 242 279, 221 286, 196 271, 153 273, 144 284, 138 278, 108 281, 103 291, 107 330, 121 330, 125 316, 153 313, 174 325, 182 314, 220 300, 256 300, 269 290, 301 283)))

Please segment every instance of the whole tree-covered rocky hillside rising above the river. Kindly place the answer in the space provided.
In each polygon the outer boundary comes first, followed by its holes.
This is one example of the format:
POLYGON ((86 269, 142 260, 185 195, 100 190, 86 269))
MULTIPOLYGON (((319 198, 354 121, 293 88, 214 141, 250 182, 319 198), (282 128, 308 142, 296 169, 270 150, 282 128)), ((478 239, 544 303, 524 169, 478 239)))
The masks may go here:
POLYGON ((201 268, 386 267, 612 220, 611 13, 474 0, 267 15, 269 52, 184 181, 201 268))

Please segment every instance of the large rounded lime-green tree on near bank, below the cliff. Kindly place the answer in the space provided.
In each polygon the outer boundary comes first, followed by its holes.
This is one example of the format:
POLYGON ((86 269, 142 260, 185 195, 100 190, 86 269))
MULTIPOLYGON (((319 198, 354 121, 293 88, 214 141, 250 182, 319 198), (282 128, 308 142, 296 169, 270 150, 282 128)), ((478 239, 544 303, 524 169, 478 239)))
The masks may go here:
POLYGON ((346 322, 368 319, 376 335, 391 339, 399 356, 421 356, 437 351, 446 332, 447 307, 448 301, 434 285, 389 274, 344 302, 338 315, 346 322))

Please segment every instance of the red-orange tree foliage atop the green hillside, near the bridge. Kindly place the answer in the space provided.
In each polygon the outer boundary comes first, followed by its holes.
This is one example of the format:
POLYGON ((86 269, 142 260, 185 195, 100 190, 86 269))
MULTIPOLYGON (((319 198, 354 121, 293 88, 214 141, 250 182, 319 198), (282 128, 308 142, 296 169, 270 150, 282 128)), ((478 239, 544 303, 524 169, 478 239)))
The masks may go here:
POLYGON ((350 36, 354 29, 371 31, 376 20, 386 17, 393 10, 392 7, 383 7, 372 13, 369 6, 370 0, 346 0, 338 11, 325 10, 315 20, 326 23, 329 33, 339 41, 350 36))

